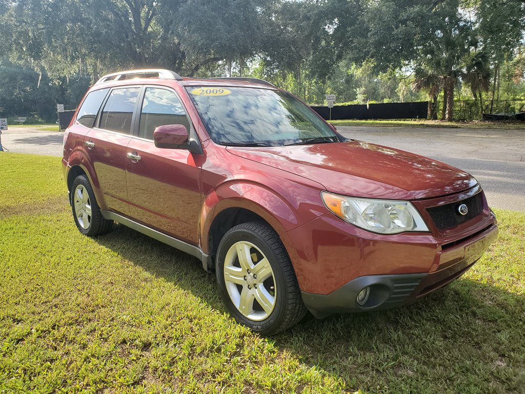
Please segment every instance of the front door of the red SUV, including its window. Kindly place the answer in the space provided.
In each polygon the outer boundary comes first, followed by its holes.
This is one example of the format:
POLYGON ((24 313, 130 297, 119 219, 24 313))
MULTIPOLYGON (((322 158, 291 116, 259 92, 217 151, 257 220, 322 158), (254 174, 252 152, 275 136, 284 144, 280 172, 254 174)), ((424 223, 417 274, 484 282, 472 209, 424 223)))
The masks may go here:
POLYGON ((184 125, 193 133, 190 119, 169 88, 146 87, 139 112, 137 136, 127 148, 131 154, 126 161, 130 214, 139 222, 197 244, 203 156, 184 149, 156 148, 153 142, 153 131, 163 125, 184 125))

